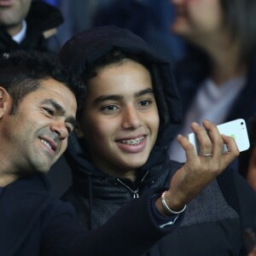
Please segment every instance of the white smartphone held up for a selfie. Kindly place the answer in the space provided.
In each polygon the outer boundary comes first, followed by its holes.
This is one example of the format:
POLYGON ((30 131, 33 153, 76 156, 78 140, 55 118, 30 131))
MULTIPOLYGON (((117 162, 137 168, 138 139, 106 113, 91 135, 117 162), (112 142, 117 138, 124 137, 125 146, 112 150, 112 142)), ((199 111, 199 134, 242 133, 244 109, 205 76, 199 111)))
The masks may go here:
MULTIPOLYGON (((236 119, 222 125, 217 125, 220 134, 226 136, 234 137, 236 140, 236 145, 239 151, 247 150, 250 147, 247 125, 244 119, 236 119)), ((195 147, 196 153, 200 153, 200 145, 195 133, 189 133, 189 142, 195 147)), ((224 152, 227 151, 226 145, 224 145, 224 152)))

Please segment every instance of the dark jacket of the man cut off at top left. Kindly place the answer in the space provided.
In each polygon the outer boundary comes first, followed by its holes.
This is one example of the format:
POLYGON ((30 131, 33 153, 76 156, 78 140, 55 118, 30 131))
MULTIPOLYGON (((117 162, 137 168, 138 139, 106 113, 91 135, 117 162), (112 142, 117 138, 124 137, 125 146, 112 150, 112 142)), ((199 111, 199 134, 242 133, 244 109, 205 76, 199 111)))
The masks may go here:
MULTIPOLYGON (((32 1, 26 15, 26 38, 18 44, 4 28, 0 28, 0 52, 15 49, 48 51, 47 41, 63 22, 61 12, 55 7, 41 1, 32 1)), ((60 46, 59 46, 60 48, 60 46)))

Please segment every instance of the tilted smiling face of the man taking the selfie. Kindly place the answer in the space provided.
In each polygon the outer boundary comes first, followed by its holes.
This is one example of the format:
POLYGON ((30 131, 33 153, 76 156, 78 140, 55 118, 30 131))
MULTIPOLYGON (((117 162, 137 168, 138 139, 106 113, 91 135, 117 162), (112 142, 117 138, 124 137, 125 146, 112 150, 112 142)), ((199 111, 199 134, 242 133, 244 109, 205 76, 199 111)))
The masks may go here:
POLYGON ((9 114, 9 102, 0 119, 1 148, 10 172, 48 172, 73 131, 73 92, 55 79, 43 79, 40 85, 22 99, 15 114, 9 114))

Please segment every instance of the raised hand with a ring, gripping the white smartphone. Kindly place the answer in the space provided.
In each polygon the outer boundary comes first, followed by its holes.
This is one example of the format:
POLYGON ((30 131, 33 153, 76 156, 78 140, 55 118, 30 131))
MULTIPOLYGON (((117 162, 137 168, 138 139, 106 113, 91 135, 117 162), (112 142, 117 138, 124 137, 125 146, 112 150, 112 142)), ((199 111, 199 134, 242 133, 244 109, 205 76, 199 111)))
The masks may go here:
POLYGON ((224 172, 239 154, 235 139, 220 135, 217 126, 213 123, 204 120, 203 126, 192 123, 191 128, 198 138, 201 153, 212 155, 197 154, 189 139, 178 135, 177 141, 185 150, 187 160, 172 177, 168 195, 175 203, 171 208, 181 207, 191 201, 208 183, 224 172), (224 144, 228 148, 227 153, 223 151, 224 144))

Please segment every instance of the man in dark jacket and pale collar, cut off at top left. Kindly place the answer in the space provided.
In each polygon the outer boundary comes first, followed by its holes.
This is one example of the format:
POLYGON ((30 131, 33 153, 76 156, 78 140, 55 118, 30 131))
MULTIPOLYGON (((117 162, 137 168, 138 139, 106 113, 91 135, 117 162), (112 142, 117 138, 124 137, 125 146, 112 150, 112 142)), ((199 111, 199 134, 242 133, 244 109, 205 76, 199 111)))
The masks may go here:
MULTIPOLYGON (((1 1, 0 52, 15 49, 48 51, 49 38, 55 35, 56 27, 62 22, 60 11, 47 3, 32 0, 1 1)), ((55 50, 53 46, 51 50, 55 50)))

